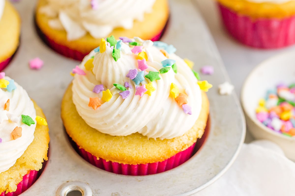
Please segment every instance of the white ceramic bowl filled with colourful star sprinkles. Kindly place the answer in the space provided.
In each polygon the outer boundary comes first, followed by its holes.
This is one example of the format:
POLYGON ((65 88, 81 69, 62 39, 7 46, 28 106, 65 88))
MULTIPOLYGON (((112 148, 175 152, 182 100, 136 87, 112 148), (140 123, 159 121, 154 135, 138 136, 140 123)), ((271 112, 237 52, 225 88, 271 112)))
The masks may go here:
POLYGON ((295 160, 295 55, 282 53, 260 63, 242 87, 247 130, 277 143, 295 160))

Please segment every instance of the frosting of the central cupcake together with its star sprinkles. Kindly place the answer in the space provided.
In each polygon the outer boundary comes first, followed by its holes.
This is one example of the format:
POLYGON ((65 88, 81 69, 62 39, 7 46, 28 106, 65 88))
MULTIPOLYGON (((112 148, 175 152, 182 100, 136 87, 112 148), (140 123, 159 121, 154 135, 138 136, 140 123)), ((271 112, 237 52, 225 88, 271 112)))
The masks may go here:
MULTIPOLYGON (((148 138, 183 135, 201 110, 197 73, 172 45, 113 36, 73 69, 73 103, 92 128, 109 135, 148 138)), ((200 89, 200 86, 201 89, 200 89)), ((204 88, 205 87, 205 88, 204 88)))

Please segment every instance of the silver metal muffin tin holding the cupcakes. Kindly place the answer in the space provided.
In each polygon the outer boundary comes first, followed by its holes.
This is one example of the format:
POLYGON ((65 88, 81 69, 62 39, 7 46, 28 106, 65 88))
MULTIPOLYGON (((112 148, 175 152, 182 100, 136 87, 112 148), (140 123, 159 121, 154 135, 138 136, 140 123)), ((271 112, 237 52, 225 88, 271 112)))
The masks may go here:
POLYGON ((94 167, 72 148, 60 118, 60 103, 71 82, 70 71, 78 65, 52 51, 37 36, 34 27, 36 1, 14 4, 22 18, 21 43, 5 72, 27 90, 44 110, 50 128, 49 161, 32 187, 22 196, 65 196, 78 190, 84 196, 186 196, 194 195, 217 180, 233 163, 245 137, 245 120, 233 93, 220 96, 217 86, 229 81, 214 41, 196 6, 189 0, 171 0, 170 24, 162 41, 173 44, 177 55, 203 65, 214 66, 213 76, 201 76, 213 84, 208 92, 211 131, 207 142, 186 163, 172 170, 148 176, 124 176, 94 167), (31 70, 28 61, 40 57, 41 70, 31 70))

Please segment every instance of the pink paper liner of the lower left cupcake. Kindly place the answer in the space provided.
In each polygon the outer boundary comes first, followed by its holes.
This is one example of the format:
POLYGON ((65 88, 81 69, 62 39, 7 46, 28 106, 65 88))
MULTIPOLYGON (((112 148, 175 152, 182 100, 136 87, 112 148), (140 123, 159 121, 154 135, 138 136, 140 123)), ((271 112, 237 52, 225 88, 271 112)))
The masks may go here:
POLYGON ((20 195, 22 192, 27 190, 34 182, 36 182, 37 178, 39 177, 39 172, 35 170, 31 170, 28 174, 24 175, 22 181, 18 183, 17 190, 14 192, 2 192, 0 196, 17 196, 20 195))

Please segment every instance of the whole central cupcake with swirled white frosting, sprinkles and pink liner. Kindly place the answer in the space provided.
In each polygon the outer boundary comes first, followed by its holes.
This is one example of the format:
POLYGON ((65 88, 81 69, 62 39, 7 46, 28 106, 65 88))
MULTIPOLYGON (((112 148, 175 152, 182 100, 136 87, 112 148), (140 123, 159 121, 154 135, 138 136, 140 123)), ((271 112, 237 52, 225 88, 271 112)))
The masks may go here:
POLYGON ((198 81, 175 51, 160 41, 103 39, 73 69, 61 116, 85 160, 118 174, 148 175, 191 157, 206 127, 204 91, 212 85, 198 81))

